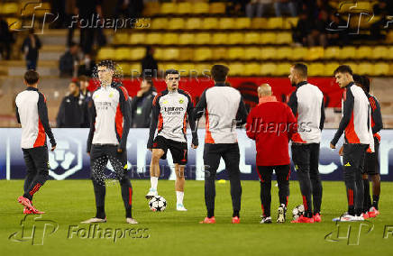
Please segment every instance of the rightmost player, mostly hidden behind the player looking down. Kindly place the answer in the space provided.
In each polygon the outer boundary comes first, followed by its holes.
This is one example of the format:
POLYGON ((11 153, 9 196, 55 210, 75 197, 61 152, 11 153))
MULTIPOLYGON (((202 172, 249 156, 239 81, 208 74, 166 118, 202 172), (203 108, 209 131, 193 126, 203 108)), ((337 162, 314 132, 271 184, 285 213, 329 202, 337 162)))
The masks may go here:
POLYGON ((365 76, 353 75, 355 84, 361 87, 369 98, 371 107, 371 129, 374 134, 374 152, 366 151, 366 158, 364 160, 363 169, 363 183, 364 183, 364 203, 363 215, 368 217, 376 217, 379 215, 379 194, 380 194, 380 176, 379 176, 379 131, 383 128, 382 114, 380 113, 380 106, 377 98, 370 95, 370 79, 365 76), (370 182, 372 182, 372 204, 370 198, 370 182))

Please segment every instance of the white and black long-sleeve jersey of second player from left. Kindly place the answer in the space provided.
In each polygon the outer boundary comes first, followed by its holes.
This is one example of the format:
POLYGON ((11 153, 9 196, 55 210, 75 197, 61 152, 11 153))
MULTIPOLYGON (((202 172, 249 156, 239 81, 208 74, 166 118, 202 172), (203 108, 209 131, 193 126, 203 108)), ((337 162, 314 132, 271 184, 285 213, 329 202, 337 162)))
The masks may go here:
POLYGON ((118 145, 125 150, 131 118, 127 90, 113 82, 110 87, 98 87, 92 100, 87 152, 92 144, 118 145))

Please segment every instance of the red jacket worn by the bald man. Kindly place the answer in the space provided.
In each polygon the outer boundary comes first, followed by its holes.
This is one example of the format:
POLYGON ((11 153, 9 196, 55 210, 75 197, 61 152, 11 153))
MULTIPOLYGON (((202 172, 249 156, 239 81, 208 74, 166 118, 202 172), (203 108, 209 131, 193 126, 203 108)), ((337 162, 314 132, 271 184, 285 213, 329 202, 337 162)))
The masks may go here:
POLYGON ((257 166, 290 163, 288 142, 297 132, 297 119, 288 105, 270 101, 255 106, 247 117, 246 130, 256 143, 257 166))

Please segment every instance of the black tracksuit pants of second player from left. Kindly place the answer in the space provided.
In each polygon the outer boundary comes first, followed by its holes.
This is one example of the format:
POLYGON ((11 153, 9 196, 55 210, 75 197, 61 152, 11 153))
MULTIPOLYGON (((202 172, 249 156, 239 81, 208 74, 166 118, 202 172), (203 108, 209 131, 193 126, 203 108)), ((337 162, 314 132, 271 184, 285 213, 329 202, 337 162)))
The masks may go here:
POLYGON ((116 145, 93 144, 90 152, 91 178, 96 195, 96 217, 105 218, 105 174, 104 169, 111 161, 115 177, 120 181, 122 188, 125 216, 132 217, 133 187, 127 176, 127 152, 117 152, 116 145))

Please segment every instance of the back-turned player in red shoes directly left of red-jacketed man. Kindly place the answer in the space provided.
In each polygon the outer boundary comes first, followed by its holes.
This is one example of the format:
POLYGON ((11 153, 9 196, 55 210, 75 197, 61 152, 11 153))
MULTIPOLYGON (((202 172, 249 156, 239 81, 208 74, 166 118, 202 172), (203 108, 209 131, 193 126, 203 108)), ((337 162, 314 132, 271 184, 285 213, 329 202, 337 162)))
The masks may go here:
POLYGON ((206 114, 204 163, 207 216, 201 224, 215 224, 215 174, 221 158, 224 159, 231 182, 232 223, 240 223, 242 185, 236 124, 246 123, 247 110, 240 92, 226 86, 228 72, 228 67, 224 65, 212 67, 211 74, 215 80, 215 87, 204 91, 194 110, 197 118, 206 114))

